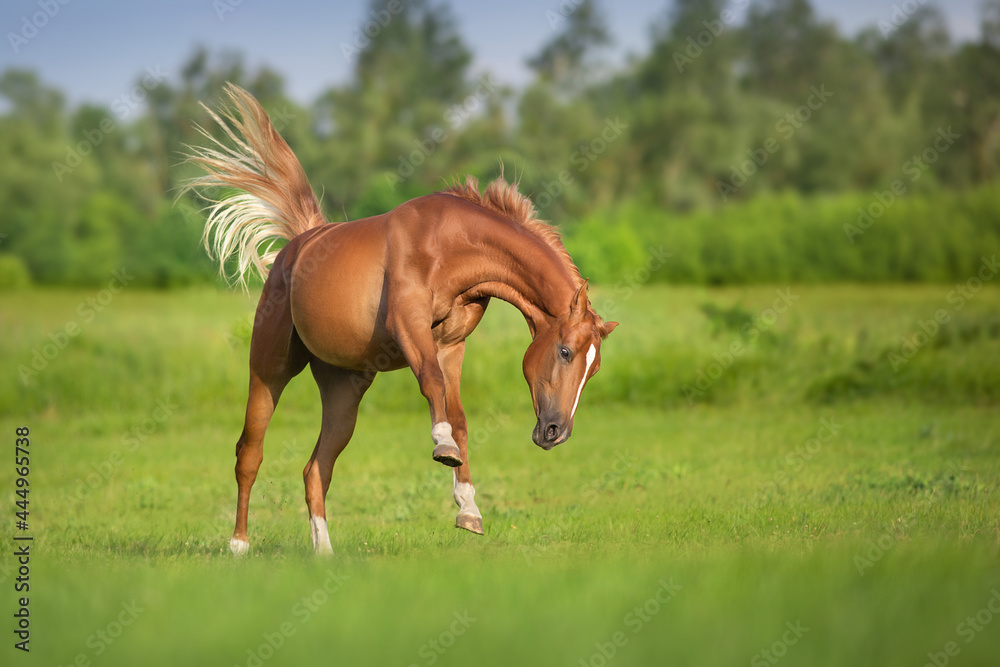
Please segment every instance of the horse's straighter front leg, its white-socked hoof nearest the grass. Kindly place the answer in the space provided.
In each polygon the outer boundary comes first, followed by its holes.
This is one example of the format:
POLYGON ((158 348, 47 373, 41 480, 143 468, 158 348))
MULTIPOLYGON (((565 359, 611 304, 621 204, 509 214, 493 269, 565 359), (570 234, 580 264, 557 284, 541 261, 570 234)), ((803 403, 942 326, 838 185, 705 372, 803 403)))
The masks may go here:
POLYGON ((462 465, 452 470, 454 479, 452 497, 458 505, 455 525, 482 535, 483 515, 479 513, 479 507, 476 506, 476 489, 472 486, 472 472, 469 469, 469 429, 466 425, 465 410, 462 408, 459 390, 464 356, 465 342, 463 341, 441 348, 438 352, 438 362, 444 373, 448 421, 451 423, 452 435, 462 456, 462 465))

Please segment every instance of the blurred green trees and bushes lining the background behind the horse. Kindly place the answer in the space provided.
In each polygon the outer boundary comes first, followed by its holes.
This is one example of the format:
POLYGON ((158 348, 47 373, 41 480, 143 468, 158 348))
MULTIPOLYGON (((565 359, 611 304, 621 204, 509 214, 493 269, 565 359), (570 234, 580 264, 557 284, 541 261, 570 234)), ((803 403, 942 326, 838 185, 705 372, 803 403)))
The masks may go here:
POLYGON ((194 175, 182 153, 204 141, 196 125, 214 131, 199 103, 218 106, 226 81, 269 110, 330 219, 381 213, 456 176, 488 179, 506 168, 542 216, 563 226, 585 272, 606 280, 641 265, 645 247, 667 238, 688 250, 675 253, 662 279, 798 275, 782 268, 791 261, 782 252, 822 263, 823 247, 800 242, 817 205, 839 211, 825 217, 828 233, 817 243, 838 237, 838 256, 868 244, 862 259, 813 272, 821 279, 949 279, 970 265, 965 254, 996 247, 1000 199, 982 190, 1000 167, 997 0, 982 6, 979 39, 963 43, 938 7, 915 0, 854 38, 821 20, 809 0, 673 0, 648 52, 617 67, 607 62, 606 11, 580 0, 545 12, 552 36, 528 59, 534 78, 523 90, 473 72, 448 5, 427 0, 405 2, 346 53, 350 81, 305 107, 286 95, 280 73, 250 71, 241 55, 206 49, 175 79, 140 73, 110 108, 67 108, 33 72, 7 70, 0 285, 95 285, 123 264, 139 284, 214 280, 200 247, 202 203, 174 196, 194 175), (949 228, 962 191, 979 193, 976 219, 962 214, 974 230, 968 240, 949 228), (869 225, 871 234, 851 238, 845 229, 839 240, 843 226, 865 212, 871 219, 883 193, 928 203, 909 203, 905 217, 897 207, 869 225), (940 245, 940 236, 952 244, 942 246, 941 266, 917 274, 892 269, 914 218, 928 243, 940 245), (740 247, 720 220, 755 229, 772 252, 740 247), (727 261, 717 242, 736 257, 767 257, 773 270, 720 277, 706 268, 727 261))

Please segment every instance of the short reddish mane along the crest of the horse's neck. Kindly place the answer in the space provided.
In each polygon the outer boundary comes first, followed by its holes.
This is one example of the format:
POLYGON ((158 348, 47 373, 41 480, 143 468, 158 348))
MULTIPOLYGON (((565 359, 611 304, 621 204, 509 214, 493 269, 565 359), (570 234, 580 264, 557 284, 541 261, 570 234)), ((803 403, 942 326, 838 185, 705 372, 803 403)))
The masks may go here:
POLYGON ((570 276, 573 277, 573 283, 577 287, 583 282, 580 270, 573 264, 573 259, 566 251, 566 246, 563 245, 559 230, 535 217, 535 205, 517 191, 516 183, 508 183, 503 177, 500 177, 486 186, 484 192, 480 192, 479 179, 468 175, 465 177, 465 183, 456 182, 441 192, 461 197, 518 223, 552 248, 570 276))

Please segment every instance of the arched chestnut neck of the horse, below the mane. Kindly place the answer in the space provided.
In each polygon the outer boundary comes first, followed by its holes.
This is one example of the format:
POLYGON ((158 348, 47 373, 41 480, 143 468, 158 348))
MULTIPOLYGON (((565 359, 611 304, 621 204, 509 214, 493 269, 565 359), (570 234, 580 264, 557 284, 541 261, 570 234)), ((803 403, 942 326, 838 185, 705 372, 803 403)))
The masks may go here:
POLYGON ((544 241, 511 234, 499 225, 488 229, 484 241, 491 252, 477 260, 467 298, 489 296, 510 303, 524 315, 532 335, 569 308, 574 279, 544 241))

